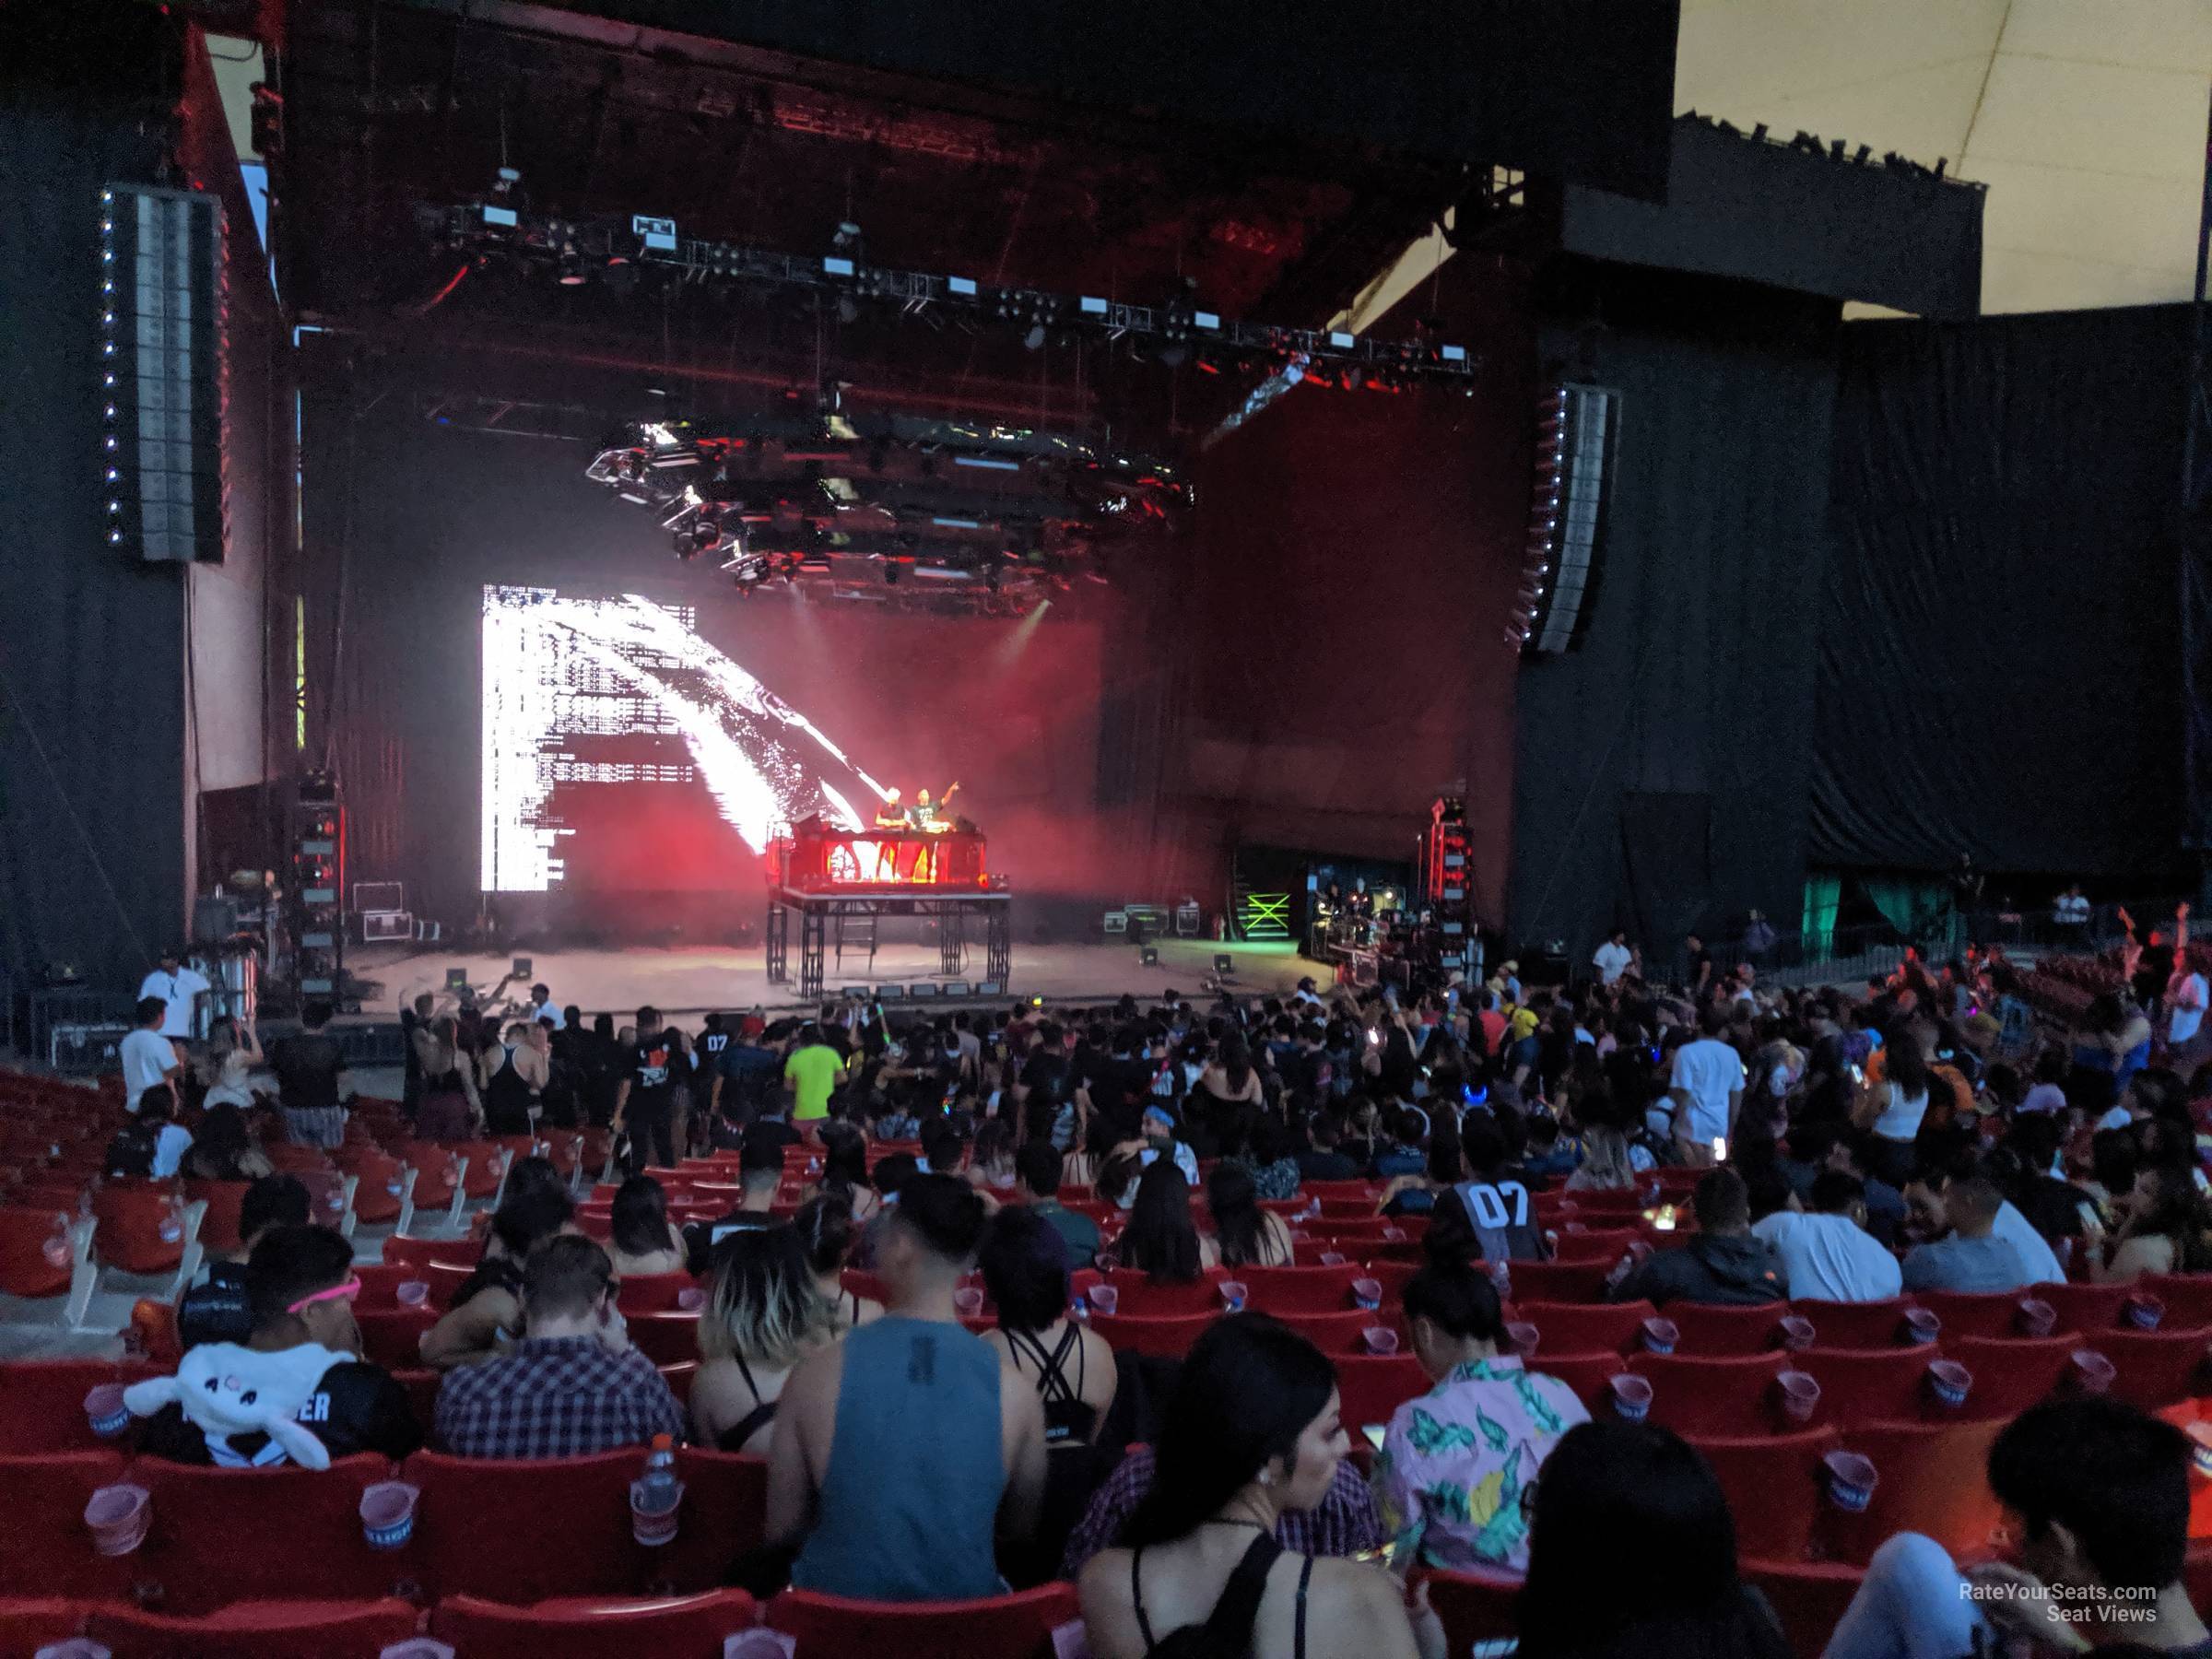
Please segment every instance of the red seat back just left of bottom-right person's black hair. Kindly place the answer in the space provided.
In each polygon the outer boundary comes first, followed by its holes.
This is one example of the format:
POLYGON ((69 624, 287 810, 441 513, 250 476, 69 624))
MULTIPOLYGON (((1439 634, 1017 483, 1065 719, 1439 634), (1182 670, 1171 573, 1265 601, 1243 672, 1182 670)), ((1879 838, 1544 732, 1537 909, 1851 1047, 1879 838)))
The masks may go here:
POLYGON ((1827 1555, 1865 1566, 1891 1533, 1927 1533, 1955 1557, 1986 1559, 2004 1526, 2004 1511, 1989 1491, 1989 1447, 2002 1429, 2000 1420, 1847 1429, 1845 1451, 1874 1462, 1874 1502, 1858 1513, 1834 1504, 1823 1511, 1827 1555))

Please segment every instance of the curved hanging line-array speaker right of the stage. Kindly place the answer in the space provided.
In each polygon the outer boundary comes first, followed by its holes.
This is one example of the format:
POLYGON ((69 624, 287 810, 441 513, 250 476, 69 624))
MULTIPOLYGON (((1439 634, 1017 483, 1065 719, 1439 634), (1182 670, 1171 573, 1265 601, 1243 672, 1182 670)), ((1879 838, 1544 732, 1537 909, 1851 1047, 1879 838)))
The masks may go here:
POLYGON ((1619 403, 1604 387, 1559 385, 1537 407, 1528 546, 1513 611, 1513 635, 1531 655, 1573 650, 1590 626, 1619 403))

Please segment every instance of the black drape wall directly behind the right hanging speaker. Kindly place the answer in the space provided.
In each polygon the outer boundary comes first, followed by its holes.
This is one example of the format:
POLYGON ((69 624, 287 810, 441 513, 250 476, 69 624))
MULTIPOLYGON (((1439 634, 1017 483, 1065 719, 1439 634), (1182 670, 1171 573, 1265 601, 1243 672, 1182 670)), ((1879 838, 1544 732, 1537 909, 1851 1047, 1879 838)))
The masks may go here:
MULTIPOLYGON (((1621 394, 1584 646, 1522 666, 1511 933, 1670 960, 1805 880, 1836 305, 1555 261, 1553 378, 1621 394)), ((1790 918, 1790 920, 1783 920, 1790 918)))

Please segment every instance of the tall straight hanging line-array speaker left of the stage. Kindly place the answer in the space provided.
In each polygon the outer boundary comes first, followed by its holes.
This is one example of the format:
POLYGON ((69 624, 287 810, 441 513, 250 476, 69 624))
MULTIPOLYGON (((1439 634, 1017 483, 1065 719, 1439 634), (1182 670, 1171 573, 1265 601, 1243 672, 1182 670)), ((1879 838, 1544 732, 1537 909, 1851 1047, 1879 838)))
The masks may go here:
POLYGON ((223 557, 228 265, 197 190, 100 190, 100 476, 108 546, 223 557))

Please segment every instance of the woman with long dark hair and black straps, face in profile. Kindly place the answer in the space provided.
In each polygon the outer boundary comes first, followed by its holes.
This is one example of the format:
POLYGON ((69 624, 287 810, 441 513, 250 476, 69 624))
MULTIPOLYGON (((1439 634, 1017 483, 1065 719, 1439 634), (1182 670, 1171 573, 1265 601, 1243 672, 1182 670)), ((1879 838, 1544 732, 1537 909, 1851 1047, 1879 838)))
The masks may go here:
POLYGON ((1416 1641, 1389 1573, 1290 1555, 1274 1537, 1285 1513, 1325 1498, 1345 1451, 1336 1374, 1321 1349, 1265 1314, 1214 1323, 1183 1363, 1128 1548, 1084 1566, 1091 1652, 1442 1655, 1442 1630, 1425 1608, 1427 1639, 1416 1641), (1177 1639, 1194 1626, 1203 1637, 1177 1639))

